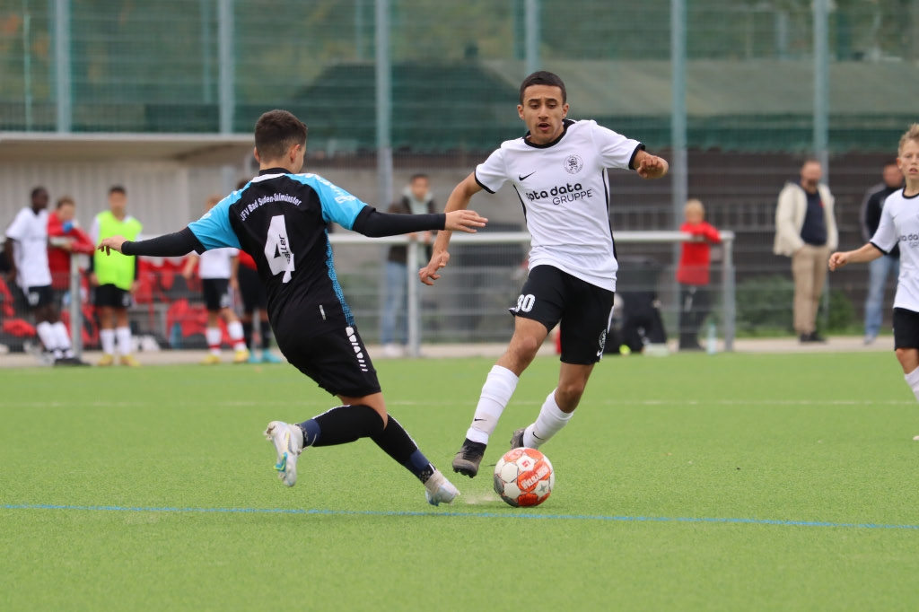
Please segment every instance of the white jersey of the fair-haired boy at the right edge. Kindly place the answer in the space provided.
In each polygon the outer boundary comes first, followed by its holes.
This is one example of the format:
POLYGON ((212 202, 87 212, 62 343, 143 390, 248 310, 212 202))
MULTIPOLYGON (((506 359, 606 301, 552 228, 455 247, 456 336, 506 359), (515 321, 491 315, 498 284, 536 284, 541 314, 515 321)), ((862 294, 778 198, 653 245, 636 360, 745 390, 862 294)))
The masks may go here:
POLYGON ((907 198, 904 189, 884 200, 871 244, 884 253, 900 244, 900 278, 894 308, 919 312, 919 195, 907 198))

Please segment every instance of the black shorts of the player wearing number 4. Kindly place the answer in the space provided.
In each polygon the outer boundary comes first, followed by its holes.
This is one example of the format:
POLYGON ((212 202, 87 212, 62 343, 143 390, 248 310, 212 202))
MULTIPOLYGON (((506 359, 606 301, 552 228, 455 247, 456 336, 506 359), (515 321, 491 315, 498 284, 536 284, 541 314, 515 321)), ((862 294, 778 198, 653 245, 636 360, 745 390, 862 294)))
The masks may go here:
POLYGON ((354 327, 308 335, 302 324, 275 330, 278 349, 301 372, 333 395, 363 397, 380 392, 367 346, 354 327))

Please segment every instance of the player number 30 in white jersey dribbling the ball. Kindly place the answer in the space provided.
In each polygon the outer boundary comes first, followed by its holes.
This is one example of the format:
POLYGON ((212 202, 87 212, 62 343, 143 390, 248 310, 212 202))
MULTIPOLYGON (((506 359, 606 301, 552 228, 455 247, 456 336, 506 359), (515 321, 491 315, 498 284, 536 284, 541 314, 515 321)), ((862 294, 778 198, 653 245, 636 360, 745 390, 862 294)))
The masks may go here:
MULTIPOLYGON (((446 211, 465 209, 473 195, 494 193, 509 182, 517 192, 532 234, 529 276, 516 305, 514 335, 488 374, 453 470, 470 478, 479 471, 489 437, 539 346, 561 324, 562 367, 558 386, 546 397, 536 422, 518 429, 512 447, 539 448, 558 433, 577 408, 606 342, 616 290, 616 261, 609 225, 607 168, 636 170, 661 178, 668 164, 641 142, 600 127, 565 119, 565 85, 556 74, 530 74, 520 85, 517 114, 523 138, 501 148, 463 179, 446 211)), ((447 266, 450 232, 437 234, 430 262, 419 278, 427 285, 447 266)))

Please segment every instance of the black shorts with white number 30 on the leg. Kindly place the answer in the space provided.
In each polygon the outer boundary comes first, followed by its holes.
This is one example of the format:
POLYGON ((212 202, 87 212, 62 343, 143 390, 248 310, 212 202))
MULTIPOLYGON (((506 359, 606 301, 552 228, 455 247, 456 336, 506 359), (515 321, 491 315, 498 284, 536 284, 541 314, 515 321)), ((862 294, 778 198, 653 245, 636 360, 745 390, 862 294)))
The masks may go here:
POLYGON ((586 366, 603 357, 613 295, 555 266, 536 266, 529 271, 516 306, 508 310, 539 321, 547 330, 561 322, 562 361, 586 366))

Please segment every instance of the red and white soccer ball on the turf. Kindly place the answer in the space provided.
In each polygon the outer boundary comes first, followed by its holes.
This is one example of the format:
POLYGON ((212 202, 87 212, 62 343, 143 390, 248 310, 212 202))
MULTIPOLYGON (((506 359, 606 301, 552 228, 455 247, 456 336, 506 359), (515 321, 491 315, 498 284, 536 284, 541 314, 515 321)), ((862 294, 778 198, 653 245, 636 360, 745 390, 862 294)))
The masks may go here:
POLYGON ((494 466, 494 493, 515 508, 542 504, 554 484, 552 464, 536 448, 512 448, 494 466))

